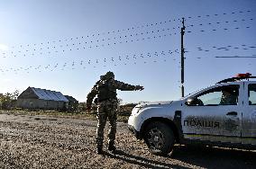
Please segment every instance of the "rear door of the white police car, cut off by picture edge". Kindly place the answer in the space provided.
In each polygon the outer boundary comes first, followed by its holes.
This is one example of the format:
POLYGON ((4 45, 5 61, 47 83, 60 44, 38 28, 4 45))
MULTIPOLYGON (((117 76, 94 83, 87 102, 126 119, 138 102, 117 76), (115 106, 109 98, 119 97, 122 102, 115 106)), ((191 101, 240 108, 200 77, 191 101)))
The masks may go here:
POLYGON ((256 83, 244 82, 242 113, 242 144, 256 145, 256 83))

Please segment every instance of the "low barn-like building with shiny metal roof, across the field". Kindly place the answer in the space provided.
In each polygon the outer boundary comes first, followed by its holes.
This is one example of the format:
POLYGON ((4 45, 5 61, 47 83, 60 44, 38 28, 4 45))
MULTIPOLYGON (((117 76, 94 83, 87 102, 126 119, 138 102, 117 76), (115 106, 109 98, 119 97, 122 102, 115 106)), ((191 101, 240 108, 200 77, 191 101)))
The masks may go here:
POLYGON ((23 109, 66 110, 69 100, 60 92, 28 87, 18 96, 16 106, 23 109))

